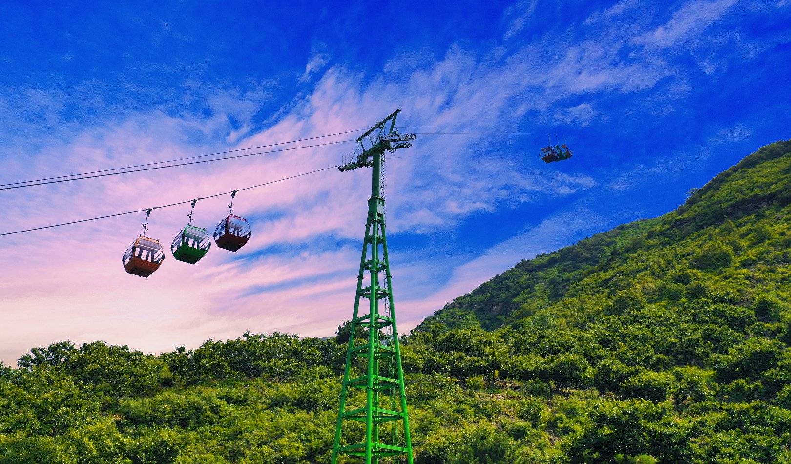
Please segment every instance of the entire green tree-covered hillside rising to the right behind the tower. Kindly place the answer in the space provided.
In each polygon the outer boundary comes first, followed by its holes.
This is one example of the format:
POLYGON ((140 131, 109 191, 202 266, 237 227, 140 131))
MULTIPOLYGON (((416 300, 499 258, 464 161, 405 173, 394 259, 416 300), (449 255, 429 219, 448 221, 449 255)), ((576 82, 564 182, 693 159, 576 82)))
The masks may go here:
MULTIPOLYGON (((454 300, 403 339, 415 462, 791 462, 789 230, 780 142, 454 300)), ((0 367, 0 463, 327 462, 344 352, 34 348, 0 367)))

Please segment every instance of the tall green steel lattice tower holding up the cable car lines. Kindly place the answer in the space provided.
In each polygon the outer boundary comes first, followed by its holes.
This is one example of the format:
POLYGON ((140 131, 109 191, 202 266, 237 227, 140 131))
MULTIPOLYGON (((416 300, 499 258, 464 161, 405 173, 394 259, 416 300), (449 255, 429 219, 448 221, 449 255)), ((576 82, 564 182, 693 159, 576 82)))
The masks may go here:
POLYGON ((332 464, 337 462, 339 454, 364 458, 366 464, 378 463, 382 458, 400 462, 406 455, 407 462, 412 464, 407 394, 403 384, 399 336, 395 329, 388 243, 384 231, 384 152, 408 148, 412 145, 409 141, 415 139, 414 134, 399 134, 395 128, 395 117, 399 111, 395 110, 361 135, 357 139, 356 156, 338 168, 349 171, 370 167, 373 172, 340 407, 335 424, 332 464), (369 276, 367 282, 366 274, 369 276), (363 299, 367 300, 368 309, 360 311, 363 299), (360 328, 367 329, 368 343, 355 346, 360 328), (362 375, 351 378, 353 361, 358 358, 365 359, 367 367, 362 370, 362 375), (365 406, 346 409, 349 388, 365 390, 365 406), (341 446, 344 420, 358 420, 365 424, 365 436, 361 443, 341 446))

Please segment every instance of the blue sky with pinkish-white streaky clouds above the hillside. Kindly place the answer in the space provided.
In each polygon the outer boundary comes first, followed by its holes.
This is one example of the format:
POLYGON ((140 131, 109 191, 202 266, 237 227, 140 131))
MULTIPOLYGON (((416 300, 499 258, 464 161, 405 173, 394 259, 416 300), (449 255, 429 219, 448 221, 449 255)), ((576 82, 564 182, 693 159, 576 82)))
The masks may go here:
MULTIPOLYGON (((791 2, 2 2, 0 184, 372 126, 399 332, 536 254, 672 211, 791 138, 791 2), (567 143, 573 158, 545 164, 567 143)), ((353 139, 355 134, 319 139, 353 139)), ((299 146, 291 143, 285 146, 299 146)), ((337 165, 354 143, 0 191, 0 234, 337 165)), ((245 152, 242 152, 245 153, 245 152)), ((0 362, 58 340, 159 353, 351 317, 370 170, 239 192, 237 253, 121 257, 144 214, 0 237, 0 362)), ((213 230, 227 196, 199 201, 213 230)), ((154 210, 169 244, 189 205, 154 210)))

